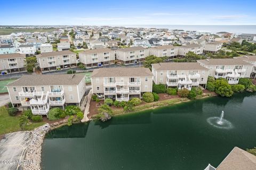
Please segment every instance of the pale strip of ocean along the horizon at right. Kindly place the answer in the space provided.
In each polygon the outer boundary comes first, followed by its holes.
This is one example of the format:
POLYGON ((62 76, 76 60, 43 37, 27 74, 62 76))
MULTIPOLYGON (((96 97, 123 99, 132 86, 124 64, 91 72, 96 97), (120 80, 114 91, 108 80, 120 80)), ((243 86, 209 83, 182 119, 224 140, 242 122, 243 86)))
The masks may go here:
POLYGON ((133 27, 133 28, 163 28, 163 29, 180 29, 185 31, 211 31, 217 33, 226 31, 230 33, 255 33, 256 25, 110 25, 117 27, 133 27))

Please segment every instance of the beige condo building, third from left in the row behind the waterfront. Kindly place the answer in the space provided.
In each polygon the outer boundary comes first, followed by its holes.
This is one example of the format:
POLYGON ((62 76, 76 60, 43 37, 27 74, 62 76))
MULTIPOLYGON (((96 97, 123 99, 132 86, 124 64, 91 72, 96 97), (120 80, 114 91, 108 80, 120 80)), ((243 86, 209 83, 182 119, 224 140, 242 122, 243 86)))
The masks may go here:
POLYGON ((79 53, 79 61, 85 67, 95 67, 115 63, 115 51, 109 48, 89 49, 79 53))

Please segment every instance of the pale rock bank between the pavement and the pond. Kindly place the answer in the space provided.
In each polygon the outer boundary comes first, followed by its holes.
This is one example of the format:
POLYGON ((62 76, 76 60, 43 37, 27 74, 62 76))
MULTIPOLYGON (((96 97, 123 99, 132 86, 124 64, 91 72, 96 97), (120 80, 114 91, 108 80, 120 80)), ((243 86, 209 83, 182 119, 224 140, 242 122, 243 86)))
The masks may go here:
POLYGON ((50 124, 44 124, 36 128, 33 133, 33 137, 27 147, 25 160, 33 160, 31 164, 24 164, 23 169, 25 170, 38 170, 41 169, 41 151, 44 136, 51 130, 50 124))

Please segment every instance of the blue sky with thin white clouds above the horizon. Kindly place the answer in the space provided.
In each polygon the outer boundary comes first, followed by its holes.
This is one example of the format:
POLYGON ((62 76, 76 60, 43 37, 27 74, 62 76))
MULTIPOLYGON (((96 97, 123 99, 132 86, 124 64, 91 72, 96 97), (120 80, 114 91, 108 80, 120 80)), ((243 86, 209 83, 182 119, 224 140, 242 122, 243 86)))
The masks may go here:
POLYGON ((255 0, 2 1, 0 25, 246 25, 255 0))

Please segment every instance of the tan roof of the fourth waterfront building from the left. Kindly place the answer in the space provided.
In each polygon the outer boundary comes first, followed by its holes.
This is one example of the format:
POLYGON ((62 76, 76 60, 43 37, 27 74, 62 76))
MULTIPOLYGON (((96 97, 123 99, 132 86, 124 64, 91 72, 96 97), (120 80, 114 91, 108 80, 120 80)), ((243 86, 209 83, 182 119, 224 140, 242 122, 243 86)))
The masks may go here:
POLYGON ((217 58, 198 60, 198 62, 205 65, 252 65, 238 58, 217 58))

